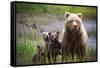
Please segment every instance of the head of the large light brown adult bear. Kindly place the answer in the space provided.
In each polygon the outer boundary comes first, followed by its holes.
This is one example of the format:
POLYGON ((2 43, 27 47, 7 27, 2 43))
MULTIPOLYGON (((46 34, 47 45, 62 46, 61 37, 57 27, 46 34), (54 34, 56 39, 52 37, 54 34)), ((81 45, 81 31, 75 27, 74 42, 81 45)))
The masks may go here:
POLYGON ((74 14, 74 13, 69 13, 65 12, 65 29, 68 31, 74 31, 77 32, 80 30, 82 23, 82 14, 74 14))

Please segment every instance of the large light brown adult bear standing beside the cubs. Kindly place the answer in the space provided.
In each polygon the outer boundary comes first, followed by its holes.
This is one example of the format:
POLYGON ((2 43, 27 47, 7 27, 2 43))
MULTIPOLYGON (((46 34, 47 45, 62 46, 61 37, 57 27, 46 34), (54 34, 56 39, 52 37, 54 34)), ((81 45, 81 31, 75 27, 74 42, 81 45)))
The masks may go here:
POLYGON ((81 13, 65 12, 64 27, 61 35, 62 59, 64 55, 74 55, 77 58, 84 58, 88 46, 88 35, 82 22, 81 13))

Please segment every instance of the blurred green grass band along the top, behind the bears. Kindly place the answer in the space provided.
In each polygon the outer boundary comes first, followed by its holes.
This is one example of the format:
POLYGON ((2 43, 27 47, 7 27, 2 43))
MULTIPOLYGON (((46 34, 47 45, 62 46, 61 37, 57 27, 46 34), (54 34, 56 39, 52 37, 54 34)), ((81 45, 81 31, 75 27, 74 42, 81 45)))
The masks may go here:
POLYGON ((95 7, 80 7, 80 6, 68 6, 68 5, 44 5, 44 4, 28 4, 17 3, 17 13, 29 13, 29 14, 64 14, 66 11, 74 13, 82 13, 86 18, 96 17, 95 7))

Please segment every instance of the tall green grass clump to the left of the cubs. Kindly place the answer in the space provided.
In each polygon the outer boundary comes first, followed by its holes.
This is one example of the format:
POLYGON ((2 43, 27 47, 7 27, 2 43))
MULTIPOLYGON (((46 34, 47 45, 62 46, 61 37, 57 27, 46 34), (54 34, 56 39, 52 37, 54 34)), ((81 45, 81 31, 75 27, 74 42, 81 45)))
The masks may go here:
POLYGON ((32 57, 37 53, 37 45, 43 45, 43 39, 35 32, 32 35, 22 34, 16 41, 16 64, 32 64, 32 57), (30 37, 29 37, 30 36, 30 37))

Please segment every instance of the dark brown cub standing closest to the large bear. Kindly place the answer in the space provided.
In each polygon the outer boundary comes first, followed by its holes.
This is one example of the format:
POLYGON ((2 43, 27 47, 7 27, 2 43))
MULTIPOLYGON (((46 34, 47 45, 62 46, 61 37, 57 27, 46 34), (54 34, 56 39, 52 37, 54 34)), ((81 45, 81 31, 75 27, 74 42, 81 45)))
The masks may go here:
POLYGON ((58 41, 59 38, 59 32, 50 32, 49 33, 49 39, 50 39, 50 46, 48 49, 48 59, 49 62, 53 60, 56 62, 57 55, 61 55, 61 46, 60 42, 58 41))

